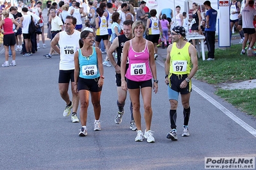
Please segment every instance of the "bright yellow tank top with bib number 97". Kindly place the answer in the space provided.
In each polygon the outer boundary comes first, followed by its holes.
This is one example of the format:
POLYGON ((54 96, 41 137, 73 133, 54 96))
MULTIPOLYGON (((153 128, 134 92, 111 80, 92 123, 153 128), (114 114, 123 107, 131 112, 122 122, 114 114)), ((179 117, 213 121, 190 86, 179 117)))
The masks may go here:
POLYGON ((176 42, 173 43, 173 47, 170 52, 170 73, 178 75, 189 74, 191 71, 191 58, 189 56, 189 45, 187 42, 182 49, 176 47, 176 42))

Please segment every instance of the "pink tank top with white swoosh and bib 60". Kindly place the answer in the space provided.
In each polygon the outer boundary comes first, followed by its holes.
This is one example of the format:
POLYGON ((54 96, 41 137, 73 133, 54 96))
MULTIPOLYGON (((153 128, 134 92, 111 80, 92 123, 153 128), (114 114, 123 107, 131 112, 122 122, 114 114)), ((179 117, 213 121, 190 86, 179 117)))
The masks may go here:
POLYGON ((131 81, 148 81, 152 79, 149 57, 148 40, 146 40, 146 45, 142 52, 133 50, 132 40, 130 40, 130 49, 128 51, 129 68, 126 72, 126 78, 131 81))

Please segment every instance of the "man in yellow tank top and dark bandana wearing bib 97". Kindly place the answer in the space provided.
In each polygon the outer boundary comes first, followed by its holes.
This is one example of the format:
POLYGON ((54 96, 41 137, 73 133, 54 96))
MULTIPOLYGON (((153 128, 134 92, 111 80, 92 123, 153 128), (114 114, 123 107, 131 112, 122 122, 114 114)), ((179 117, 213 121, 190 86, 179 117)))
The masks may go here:
POLYGON ((196 49, 185 40, 185 28, 182 26, 173 27, 171 40, 174 42, 167 48, 166 62, 166 84, 168 85, 168 97, 171 104, 169 111, 171 121, 171 132, 166 137, 173 141, 178 140, 176 130, 176 109, 178 107, 178 95, 182 97, 183 105, 183 133, 182 136, 189 136, 189 98, 192 91, 191 78, 198 70, 198 58, 196 49))

